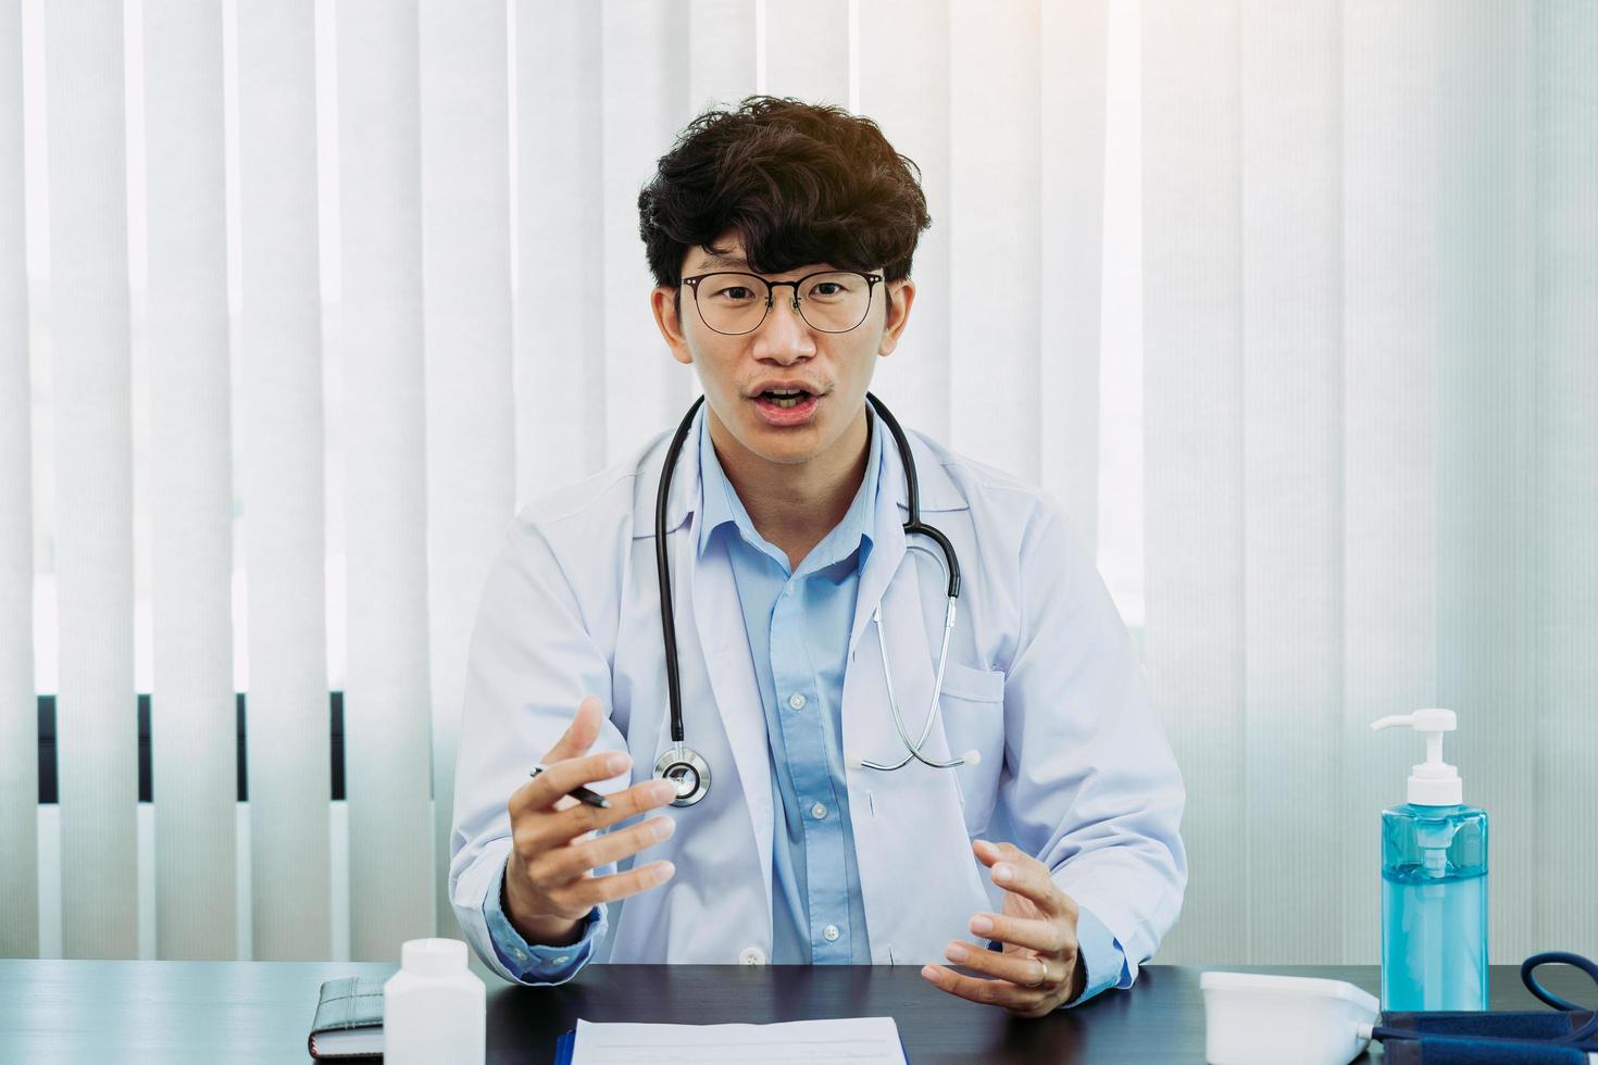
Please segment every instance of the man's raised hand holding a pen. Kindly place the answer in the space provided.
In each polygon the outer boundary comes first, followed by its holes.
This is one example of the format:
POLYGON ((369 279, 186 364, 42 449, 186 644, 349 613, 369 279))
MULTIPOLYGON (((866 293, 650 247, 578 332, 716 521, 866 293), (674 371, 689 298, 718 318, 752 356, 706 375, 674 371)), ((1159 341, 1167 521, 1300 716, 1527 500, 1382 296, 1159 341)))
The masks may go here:
POLYGON ((625 773, 622 752, 586 750, 599 738, 599 699, 577 706, 566 734, 543 755, 543 773, 510 797, 511 849, 505 864, 505 917, 529 944, 564 947, 582 939, 580 928, 598 902, 614 902, 657 888, 676 872, 671 862, 636 865, 625 873, 593 877, 646 846, 671 838, 676 822, 662 816, 625 832, 590 833, 663 806, 676 795, 670 781, 649 779, 607 795, 609 810, 580 803, 567 792, 625 773))

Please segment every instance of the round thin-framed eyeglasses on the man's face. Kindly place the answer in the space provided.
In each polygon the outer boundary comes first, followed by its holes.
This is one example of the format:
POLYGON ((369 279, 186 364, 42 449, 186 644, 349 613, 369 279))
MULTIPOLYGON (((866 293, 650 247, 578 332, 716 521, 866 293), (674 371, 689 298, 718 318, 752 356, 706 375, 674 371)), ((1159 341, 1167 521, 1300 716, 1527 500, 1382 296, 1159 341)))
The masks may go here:
POLYGON ((694 289, 700 319, 729 337, 759 329, 772 310, 772 289, 781 284, 793 287, 793 308, 812 329, 849 332, 866 321, 879 281, 880 273, 858 270, 823 270, 797 281, 767 281, 754 273, 730 271, 682 278, 682 284, 694 289))

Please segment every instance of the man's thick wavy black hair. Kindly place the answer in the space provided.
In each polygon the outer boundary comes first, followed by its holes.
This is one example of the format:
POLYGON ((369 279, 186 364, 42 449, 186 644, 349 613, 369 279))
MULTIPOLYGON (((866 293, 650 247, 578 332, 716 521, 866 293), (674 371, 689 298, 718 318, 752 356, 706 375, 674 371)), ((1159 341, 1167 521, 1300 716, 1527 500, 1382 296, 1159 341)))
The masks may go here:
POLYGON ((727 251, 711 243, 729 230, 756 273, 828 262, 880 267, 898 281, 930 225, 920 168, 877 123, 794 97, 746 96, 735 110, 702 113, 638 193, 649 268, 655 284, 678 289, 679 316, 682 255, 727 251))

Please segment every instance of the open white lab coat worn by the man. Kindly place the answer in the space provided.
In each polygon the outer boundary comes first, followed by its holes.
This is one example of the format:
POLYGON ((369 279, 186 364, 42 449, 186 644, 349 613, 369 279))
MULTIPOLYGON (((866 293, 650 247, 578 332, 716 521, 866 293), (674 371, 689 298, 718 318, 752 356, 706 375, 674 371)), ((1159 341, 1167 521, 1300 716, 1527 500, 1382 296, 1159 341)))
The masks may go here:
MULTIPOLYGON (((697 564, 698 420, 666 508, 684 730, 711 770, 676 833, 641 862, 676 877, 609 910, 594 961, 762 963, 772 952, 773 810, 765 717, 732 568, 697 564)), ((577 485, 529 503, 507 529, 471 637, 455 768, 449 893, 483 960, 507 979, 483 918, 510 851, 507 800, 585 695, 607 720, 593 750, 626 750, 644 779, 671 746, 655 493, 671 433, 577 485)), ((925 750, 981 762, 847 770, 849 811, 874 964, 941 961, 1000 893, 970 840, 1010 840, 1114 932, 1131 974, 1181 907, 1184 789, 1130 635, 1087 544, 1053 497, 908 431, 922 521, 960 560, 941 712, 925 750)), ((906 728, 920 734, 946 604, 941 567, 906 556, 904 476, 888 441, 874 548, 860 576, 844 677, 845 765, 904 754, 887 704, 871 612, 880 600, 906 728)), ((924 536, 914 540, 935 548, 924 536)), ((628 779, 631 776, 631 779, 628 779)), ((622 862, 631 867, 633 859, 622 862)), ((598 870, 614 872, 612 867, 598 870)))

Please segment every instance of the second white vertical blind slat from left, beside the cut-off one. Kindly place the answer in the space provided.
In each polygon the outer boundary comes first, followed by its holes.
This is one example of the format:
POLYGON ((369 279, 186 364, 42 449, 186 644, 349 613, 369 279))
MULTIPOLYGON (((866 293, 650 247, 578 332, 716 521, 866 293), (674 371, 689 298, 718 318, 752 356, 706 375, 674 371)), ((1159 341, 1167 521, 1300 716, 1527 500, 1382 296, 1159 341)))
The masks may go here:
POLYGON ((126 958, 137 948, 137 779, 121 11, 46 5, 45 48, 61 865, 72 870, 61 889, 62 940, 70 956, 126 958))

